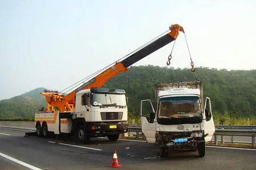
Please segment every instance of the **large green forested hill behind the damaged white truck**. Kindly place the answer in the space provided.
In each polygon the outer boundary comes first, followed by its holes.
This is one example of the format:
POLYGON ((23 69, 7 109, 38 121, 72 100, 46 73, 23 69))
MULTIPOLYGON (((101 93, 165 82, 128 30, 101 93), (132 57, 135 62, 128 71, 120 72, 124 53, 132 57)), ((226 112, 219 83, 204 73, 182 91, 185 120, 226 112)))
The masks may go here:
MULTIPOLYGON (((210 97, 213 111, 223 114, 234 108, 241 116, 256 115, 256 70, 217 70, 196 68, 197 79, 203 82, 204 97, 210 97)), ((166 69, 159 66, 134 66, 118 74, 104 87, 124 89, 129 109, 139 114, 141 100, 155 101, 156 83, 195 81, 190 69, 166 69)))

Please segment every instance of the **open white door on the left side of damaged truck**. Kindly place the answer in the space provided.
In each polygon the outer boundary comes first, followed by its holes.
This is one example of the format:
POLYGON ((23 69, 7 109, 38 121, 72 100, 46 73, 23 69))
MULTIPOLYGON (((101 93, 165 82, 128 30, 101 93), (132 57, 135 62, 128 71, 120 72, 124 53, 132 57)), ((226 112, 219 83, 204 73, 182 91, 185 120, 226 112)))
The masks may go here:
POLYGON ((149 99, 141 101, 141 125, 146 141, 148 143, 155 143, 155 111, 149 99))

